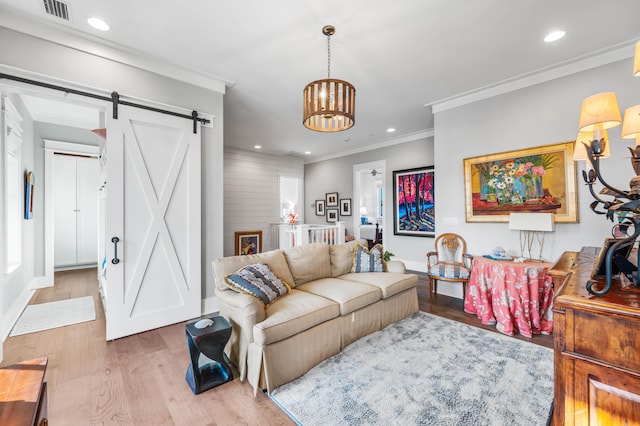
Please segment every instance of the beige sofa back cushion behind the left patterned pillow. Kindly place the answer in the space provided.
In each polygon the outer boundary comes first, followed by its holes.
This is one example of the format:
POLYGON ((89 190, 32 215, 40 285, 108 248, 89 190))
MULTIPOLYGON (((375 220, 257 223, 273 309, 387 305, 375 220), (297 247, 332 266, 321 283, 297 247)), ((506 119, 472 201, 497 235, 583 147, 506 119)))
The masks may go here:
POLYGON ((222 257, 214 260, 211 265, 216 287, 220 290, 228 290, 229 287, 225 281, 226 276, 233 274, 244 266, 254 263, 265 263, 269 265, 269 268, 278 278, 289 284, 290 287, 295 287, 293 276, 291 275, 291 271, 289 271, 289 265, 281 250, 271 250, 245 256, 222 257))

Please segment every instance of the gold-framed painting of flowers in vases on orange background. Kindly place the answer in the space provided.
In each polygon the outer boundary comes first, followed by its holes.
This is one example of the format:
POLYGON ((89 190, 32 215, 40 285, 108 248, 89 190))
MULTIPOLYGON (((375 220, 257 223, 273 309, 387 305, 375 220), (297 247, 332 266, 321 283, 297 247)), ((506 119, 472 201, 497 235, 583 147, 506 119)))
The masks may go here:
POLYGON ((467 222, 508 222, 516 212, 578 222, 574 142, 464 159, 467 222))

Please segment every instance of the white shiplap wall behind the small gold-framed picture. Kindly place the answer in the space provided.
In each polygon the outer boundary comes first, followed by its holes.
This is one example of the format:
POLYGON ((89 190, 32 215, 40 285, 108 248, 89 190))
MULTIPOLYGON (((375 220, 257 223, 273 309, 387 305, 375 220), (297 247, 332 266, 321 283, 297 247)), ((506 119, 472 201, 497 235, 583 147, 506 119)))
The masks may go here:
POLYGON ((225 256, 234 254, 236 231, 262 230, 262 250, 276 248, 271 224, 280 222, 278 176, 303 178, 304 161, 295 157, 225 149, 225 256))

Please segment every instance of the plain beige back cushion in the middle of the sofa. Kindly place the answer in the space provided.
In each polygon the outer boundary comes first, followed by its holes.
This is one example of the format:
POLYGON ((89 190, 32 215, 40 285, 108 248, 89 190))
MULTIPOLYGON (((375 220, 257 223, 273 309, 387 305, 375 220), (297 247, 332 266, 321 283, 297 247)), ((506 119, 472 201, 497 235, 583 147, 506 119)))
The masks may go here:
POLYGON ((331 276, 329 244, 303 244, 283 250, 296 285, 331 276))

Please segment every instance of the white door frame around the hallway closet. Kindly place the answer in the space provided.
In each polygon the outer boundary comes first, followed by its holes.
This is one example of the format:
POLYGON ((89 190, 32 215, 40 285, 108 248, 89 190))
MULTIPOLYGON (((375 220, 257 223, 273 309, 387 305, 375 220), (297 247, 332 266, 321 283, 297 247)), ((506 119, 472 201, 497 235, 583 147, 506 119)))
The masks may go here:
MULTIPOLYGON (((44 149, 44 277, 36 277, 36 286, 38 288, 48 287, 53 285, 53 247, 54 238, 53 235, 53 176, 54 176, 54 161, 53 156, 55 154, 71 154, 71 155, 84 155, 90 157, 98 157, 99 147, 97 145, 86 145, 72 142, 56 141, 51 139, 43 139, 44 149), (48 184, 47 184, 48 183, 48 184)), ((96 165, 97 166, 97 165, 96 165)), ((98 182, 96 182, 96 196, 98 193, 98 182)), ((98 259, 96 259, 98 262, 98 259)))

